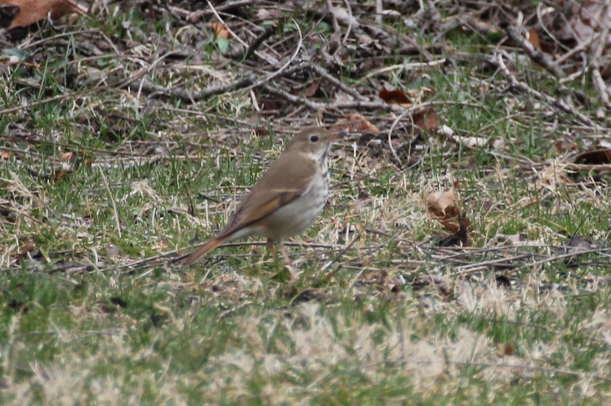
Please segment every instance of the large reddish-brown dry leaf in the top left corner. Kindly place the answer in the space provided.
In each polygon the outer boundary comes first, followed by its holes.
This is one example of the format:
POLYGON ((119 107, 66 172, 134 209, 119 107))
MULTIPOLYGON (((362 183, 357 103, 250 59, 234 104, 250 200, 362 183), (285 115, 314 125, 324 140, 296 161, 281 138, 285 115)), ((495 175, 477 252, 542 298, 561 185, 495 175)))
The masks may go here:
POLYGON ((0 4, 19 7, 19 13, 10 23, 9 30, 45 20, 49 13, 52 19, 71 13, 87 13, 87 7, 73 0, 0 0, 0 4))

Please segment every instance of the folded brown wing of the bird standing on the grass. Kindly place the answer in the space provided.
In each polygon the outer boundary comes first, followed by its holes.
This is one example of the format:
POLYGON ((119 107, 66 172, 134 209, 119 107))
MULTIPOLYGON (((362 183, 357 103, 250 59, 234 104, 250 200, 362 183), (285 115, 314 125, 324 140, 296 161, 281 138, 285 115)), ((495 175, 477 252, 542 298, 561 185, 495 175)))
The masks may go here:
POLYGON ((241 202, 219 237, 246 227, 307 193, 316 164, 305 157, 299 158, 291 162, 290 156, 280 155, 241 202))

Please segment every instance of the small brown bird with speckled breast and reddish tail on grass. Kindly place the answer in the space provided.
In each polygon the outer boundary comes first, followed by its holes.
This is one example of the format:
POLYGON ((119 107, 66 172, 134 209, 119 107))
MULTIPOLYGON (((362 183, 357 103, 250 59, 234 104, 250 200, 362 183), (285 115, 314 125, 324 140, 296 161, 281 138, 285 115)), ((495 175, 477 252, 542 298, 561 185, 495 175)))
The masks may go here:
POLYGON ((191 265, 222 243, 251 235, 266 237, 271 252, 274 252, 274 242, 280 244, 282 254, 288 258, 282 247, 285 238, 312 226, 327 202, 327 155, 332 141, 341 136, 321 128, 304 129, 295 135, 243 199, 224 229, 189 255, 185 265, 191 265))

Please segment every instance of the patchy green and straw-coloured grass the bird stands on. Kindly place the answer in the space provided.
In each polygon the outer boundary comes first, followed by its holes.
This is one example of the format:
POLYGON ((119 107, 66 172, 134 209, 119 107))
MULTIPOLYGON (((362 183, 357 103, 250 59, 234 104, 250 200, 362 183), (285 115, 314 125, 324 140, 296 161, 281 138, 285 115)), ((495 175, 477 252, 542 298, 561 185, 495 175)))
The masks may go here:
MULTIPOLYGON (((197 91, 269 68, 222 57, 235 41, 219 44, 205 22, 109 7, 31 32, 37 47, 9 43, 32 63, 4 66, 0 76, 0 110, 25 106, 0 115, 1 404, 608 402, 609 252, 554 259, 574 235, 598 248, 609 239, 606 175, 562 166, 599 133, 508 91, 503 74, 481 63, 495 52, 490 38, 455 30, 439 44, 477 57, 392 71, 359 91, 428 87, 419 102, 437 102, 441 124, 505 146, 415 136, 406 116, 395 148, 418 161, 400 167, 387 146, 397 115, 362 111, 382 141, 356 134, 334 147, 335 188, 319 221, 288 247, 302 271, 289 282, 282 260, 251 241, 189 269, 169 259, 225 224, 280 140, 319 115, 334 125, 346 112, 311 112, 261 88, 188 104, 138 83, 29 105, 131 77, 167 50, 175 59, 144 76, 153 84, 197 91), (88 34, 68 34, 79 30, 88 34), (271 107, 257 112, 253 97, 271 107), (447 231, 425 196, 449 188, 473 224, 470 249, 433 243, 447 231)), ((244 38, 258 32, 228 18, 244 38)), ((326 49, 333 27, 315 10, 280 21, 272 48, 262 49, 290 55, 296 23, 326 49)), ((358 80, 371 49, 351 49, 338 79, 358 80)), ((422 57, 373 56, 387 65, 422 57)), ((541 69, 516 69, 554 94, 541 69)), ((311 79, 274 84, 295 89, 311 79)), ((577 82, 569 85, 591 91, 577 82)), ((595 107, 579 111, 593 116, 595 107)))

